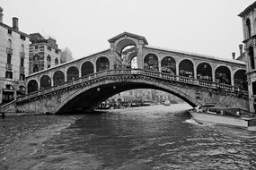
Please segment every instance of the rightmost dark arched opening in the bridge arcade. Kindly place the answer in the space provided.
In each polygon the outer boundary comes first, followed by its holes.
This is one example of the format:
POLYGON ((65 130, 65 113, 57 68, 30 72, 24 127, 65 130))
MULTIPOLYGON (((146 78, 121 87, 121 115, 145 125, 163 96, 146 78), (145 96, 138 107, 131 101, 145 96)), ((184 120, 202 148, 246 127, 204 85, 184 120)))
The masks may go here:
POLYGON ((238 70, 234 72, 234 87, 248 89, 248 85, 246 82, 247 76, 245 72, 245 70, 238 70))

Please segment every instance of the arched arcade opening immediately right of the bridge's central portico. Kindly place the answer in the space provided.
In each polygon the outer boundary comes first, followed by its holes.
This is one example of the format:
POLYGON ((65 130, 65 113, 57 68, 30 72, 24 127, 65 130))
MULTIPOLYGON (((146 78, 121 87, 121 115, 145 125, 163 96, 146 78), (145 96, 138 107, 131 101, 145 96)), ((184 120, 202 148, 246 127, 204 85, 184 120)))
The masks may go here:
POLYGON ((154 54, 146 55, 144 58, 144 69, 158 72, 158 57, 154 54))

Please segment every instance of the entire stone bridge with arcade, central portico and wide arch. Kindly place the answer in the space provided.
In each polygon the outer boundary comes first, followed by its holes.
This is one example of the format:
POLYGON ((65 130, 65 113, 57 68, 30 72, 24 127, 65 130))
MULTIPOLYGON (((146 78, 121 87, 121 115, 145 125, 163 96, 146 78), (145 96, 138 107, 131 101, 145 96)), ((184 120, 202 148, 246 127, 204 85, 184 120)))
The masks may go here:
POLYGON ((27 95, 3 106, 4 113, 91 111, 128 89, 160 89, 191 106, 248 109, 242 61, 151 47, 128 32, 109 42, 110 49, 27 76, 27 95))

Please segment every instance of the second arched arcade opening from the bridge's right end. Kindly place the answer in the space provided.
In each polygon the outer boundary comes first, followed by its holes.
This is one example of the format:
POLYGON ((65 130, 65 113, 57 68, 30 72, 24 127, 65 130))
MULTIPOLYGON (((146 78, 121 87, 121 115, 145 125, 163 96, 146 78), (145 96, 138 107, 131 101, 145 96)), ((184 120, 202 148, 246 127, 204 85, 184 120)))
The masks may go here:
POLYGON ((215 80, 217 83, 231 85, 231 73, 226 66, 219 66, 215 71, 215 80))

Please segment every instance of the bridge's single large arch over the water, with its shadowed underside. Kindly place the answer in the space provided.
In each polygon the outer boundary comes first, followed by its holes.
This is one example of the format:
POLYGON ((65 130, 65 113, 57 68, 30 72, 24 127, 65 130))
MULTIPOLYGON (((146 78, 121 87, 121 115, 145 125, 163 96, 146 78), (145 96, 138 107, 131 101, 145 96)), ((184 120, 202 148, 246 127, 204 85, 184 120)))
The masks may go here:
MULTIPOLYGON (((155 83, 152 80, 145 79, 119 82, 115 80, 107 80, 98 81, 89 87, 76 90, 70 96, 62 100, 52 112, 53 114, 59 114, 66 112, 70 108, 79 108, 80 106, 90 106, 84 107, 84 110, 93 110, 93 108, 98 106, 107 98, 110 98, 122 91, 129 89, 159 89, 183 99, 188 104, 190 104, 190 106, 201 105, 199 100, 190 97, 186 91, 181 91, 180 89, 177 89, 170 84, 168 85, 166 83, 155 83), (96 100, 94 100, 95 98, 96 100), (79 101, 83 101, 83 103, 79 103, 79 101)), ((69 112, 71 112, 71 110, 69 110, 69 112)))

